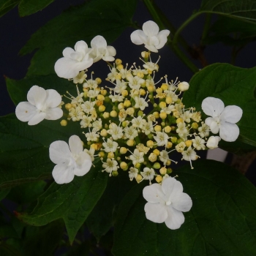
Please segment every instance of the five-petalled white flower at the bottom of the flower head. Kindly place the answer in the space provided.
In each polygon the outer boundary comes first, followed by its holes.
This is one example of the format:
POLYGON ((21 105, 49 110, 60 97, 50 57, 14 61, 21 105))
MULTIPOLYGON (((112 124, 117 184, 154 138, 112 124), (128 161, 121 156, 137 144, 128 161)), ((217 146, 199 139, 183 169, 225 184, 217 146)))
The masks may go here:
POLYGON ((175 178, 165 178, 160 184, 152 184, 143 189, 146 218, 151 222, 162 223, 171 230, 176 230, 184 223, 182 211, 189 211, 192 200, 183 192, 181 182, 175 178))

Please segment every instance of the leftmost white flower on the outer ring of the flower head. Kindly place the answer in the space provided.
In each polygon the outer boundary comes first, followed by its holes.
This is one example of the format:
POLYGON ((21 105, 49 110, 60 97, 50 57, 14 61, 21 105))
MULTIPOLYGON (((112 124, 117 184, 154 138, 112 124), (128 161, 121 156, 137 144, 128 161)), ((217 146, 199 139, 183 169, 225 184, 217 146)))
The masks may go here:
POLYGON ((53 90, 45 90, 39 86, 32 86, 27 94, 29 102, 20 102, 15 114, 20 121, 29 121, 29 125, 38 124, 43 119, 56 120, 63 116, 58 106, 61 95, 53 90))

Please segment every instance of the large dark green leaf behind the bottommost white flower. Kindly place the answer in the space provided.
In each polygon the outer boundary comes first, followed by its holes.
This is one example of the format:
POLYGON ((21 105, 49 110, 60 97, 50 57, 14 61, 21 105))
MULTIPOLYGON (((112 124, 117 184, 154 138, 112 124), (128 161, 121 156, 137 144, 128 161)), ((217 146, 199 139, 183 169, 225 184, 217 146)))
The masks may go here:
POLYGON ((122 200, 114 229, 113 254, 255 255, 256 189, 241 173, 221 162, 197 161, 177 171, 192 209, 178 230, 146 219, 143 186, 122 200))

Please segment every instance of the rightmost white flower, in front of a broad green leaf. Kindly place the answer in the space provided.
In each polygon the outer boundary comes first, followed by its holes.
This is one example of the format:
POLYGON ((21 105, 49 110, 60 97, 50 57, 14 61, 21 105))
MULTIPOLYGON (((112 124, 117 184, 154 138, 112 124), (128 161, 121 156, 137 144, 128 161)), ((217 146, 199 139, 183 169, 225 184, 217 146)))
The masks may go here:
POLYGON ((235 141, 239 135, 239 128, 236 123, 241 119, 243 110, 235 105, 224 107, 221 99, 207 97, 203 99, 202 109, 206 115, 206 124, 211 132, 217 134, 225 141, 235 141))

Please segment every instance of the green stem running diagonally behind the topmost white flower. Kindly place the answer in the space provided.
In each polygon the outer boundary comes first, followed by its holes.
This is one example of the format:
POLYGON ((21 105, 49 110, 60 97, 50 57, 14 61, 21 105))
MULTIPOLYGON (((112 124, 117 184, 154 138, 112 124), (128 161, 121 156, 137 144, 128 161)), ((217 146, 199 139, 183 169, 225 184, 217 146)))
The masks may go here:
MULTIPOLYGON (((154 5, 152 4, 151 0, 143 0, 144 4, 146 5, 148 12, 150 12, 150 14, 152 15, 152 17, 154 18, 154 20, 157 22, 159 29, 165 29, 165 25, 164 23, 162 23, 162 19, 159 17, 159 14, 157 12, 157 10, 154 8, 154 5)), ((188 22, 189 23, 189 22, 188 22)), ((187 26, 187 25, 186 25, 187 26)), ((178 29, 178 31, 181 31, 181 27, 178 29)), ((186 54, 184 54, 177 45, 178 42, 178 35, 180 32, 176 31, 176 33, 174 34, 173 40, 176 37, 176 43, 172 44, 170 36, 168 37, 168 42, 167 45, 169 45, 169 47, 173 50, 174 53, 176 53, 176 56, 178 56, 179 59, 181 59, 181 61, 187 65, 187 67, 189 67, 190 70, 192 70, 192 72, 197 72, 198 68, 195 66, 195 64, 193 64, 193 62, 187 57, 186 54)))

